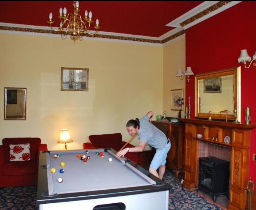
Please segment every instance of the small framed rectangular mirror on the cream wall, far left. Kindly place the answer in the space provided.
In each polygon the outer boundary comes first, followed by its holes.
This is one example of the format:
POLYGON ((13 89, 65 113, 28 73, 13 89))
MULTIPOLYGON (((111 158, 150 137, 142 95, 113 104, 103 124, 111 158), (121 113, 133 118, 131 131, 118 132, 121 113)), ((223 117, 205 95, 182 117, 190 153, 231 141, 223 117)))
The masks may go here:
POLYGON ((5 87, 4 120, 26 120, 26 88, 5 87))

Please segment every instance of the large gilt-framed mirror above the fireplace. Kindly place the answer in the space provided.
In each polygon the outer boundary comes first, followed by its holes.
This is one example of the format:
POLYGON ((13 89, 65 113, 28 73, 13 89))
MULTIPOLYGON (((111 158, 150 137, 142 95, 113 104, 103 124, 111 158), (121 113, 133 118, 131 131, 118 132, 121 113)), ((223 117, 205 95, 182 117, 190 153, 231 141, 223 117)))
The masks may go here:
POLYGON ((241 68, 234 67, 195 75, 195 117, 241 122, 241 68))

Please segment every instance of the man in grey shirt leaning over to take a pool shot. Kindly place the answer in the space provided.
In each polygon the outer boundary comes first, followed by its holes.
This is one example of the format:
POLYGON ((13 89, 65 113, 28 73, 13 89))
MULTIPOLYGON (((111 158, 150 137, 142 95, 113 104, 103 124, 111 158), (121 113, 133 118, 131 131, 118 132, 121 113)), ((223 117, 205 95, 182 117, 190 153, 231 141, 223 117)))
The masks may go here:
POLYGON ((160 131, 157 127, 150 123, 153 112, 148 112, 140 120, 129 120, 126 124, 126 129, 131 136, 138 134, 140 140, 137 147, 122 149, 116 154, 117 157, 123 157, 127 152, 142 152, 146 144, 156 148, 156 153, 151 161, 149 172, 160 179, 163 179, 165 172, 165 164, 167 153, 171 148, 170 140, 166 135, 160 131), (159 168, 159 173, 157 169, 159 168))

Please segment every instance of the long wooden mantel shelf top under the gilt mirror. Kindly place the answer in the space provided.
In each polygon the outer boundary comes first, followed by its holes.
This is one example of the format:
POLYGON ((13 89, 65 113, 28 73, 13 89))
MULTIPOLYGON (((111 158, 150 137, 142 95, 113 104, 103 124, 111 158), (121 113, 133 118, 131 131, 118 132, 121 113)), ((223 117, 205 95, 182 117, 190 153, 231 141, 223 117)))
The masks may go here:
POLYGON ((256 128, 256 124, 237 124, 237 123, 230 123, 230 122, 223 122, 217 120, 198 120, 198 119, 185 119, 180 118, 180 121, 184 123, 192 123, 192 124, 203 124, 203 125, 213 125, 213 126, 221 126, 221 127, 228 127, 228 128, 243 128, 243 129, 254 129, 256 128))

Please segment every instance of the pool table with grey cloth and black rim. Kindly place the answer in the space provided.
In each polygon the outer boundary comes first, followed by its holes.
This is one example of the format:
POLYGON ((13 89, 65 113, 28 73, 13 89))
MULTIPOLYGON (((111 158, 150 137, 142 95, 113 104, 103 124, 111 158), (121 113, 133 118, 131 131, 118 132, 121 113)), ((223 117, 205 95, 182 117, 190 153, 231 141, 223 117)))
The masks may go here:
POLYGON ((110 148, 42 151, 39 210, 168 209, 171 186, 110 148), (104 156, 96 155, 101 152, 104 156), (86 162, 78 158, 90 156, 86 162), (54 158, 58 155, 58 158, 54 158), (112 161, 109 161, 112 158, 112 161), (65 166, 60 163, 64 162, 65 166), (55 172, 52 173, 52 168, 55 172), (60 169, 64 169, 61 173, 60 169), (58 179, 62 178, 62 182, 58 179))

